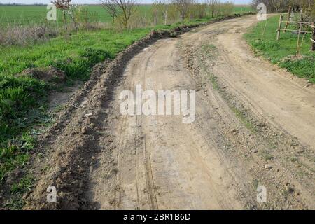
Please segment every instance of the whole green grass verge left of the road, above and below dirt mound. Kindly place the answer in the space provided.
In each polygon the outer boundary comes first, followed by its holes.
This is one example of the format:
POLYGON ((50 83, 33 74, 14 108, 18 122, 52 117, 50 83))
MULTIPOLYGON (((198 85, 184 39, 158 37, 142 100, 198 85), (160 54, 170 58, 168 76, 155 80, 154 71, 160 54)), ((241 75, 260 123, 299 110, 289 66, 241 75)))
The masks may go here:
POLYGON ((69 80, 87 80, 92 65, 116 57, 149 31, 106 29, 76 34, 68 41, 59 37, 25 48, 0 48, 0 180, 14 167, 25 164, 30 148, 24 150, 22 146, 30 139, 24 136, 34 124, 46 122, 45 97, 50 86, 15 74, 52 65, 64 70, 69 80))

